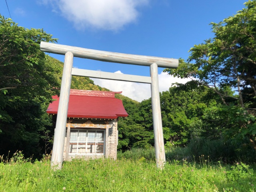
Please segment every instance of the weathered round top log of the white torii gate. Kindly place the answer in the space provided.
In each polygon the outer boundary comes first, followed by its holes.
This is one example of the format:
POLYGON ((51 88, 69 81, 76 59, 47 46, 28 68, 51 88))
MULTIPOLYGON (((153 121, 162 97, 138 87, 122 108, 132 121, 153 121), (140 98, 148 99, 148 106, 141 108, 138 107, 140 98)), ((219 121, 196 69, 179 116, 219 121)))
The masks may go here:
POLYGON ((93 49, 86 49, 74 46, 60 45, 48 42, 41 42, 40 49, 43 52, 55 53, 64 55, 66 52, 72 52, 74 57, 93 59, 106 62, 133 64, 150 66, 156 63, 158 67, 164 68, 177 68, 178 59, 162 58, 153 56, 132 55, 108 51, 99 51, 93 49))

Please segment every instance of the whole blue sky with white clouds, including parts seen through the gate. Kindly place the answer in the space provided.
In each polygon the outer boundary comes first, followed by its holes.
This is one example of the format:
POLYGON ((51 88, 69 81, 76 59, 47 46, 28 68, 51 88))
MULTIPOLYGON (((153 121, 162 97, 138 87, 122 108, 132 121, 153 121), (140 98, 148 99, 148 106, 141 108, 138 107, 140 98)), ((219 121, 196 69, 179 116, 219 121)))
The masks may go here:
MULTIPOLYGON (((89 49, 184 58, 194 44, 213 37, 210 22, 244 8, 245 0, 0 0, 0 14, 25 28, 43 28, 58 44, 89 49)), ((64 61, 64 56, 51 54, 64 61)), ((74 67, 149 76, 149 67, 74 59, 74 67)), ((186 82, 162 73, 160 91, 186 82)), ((96 84, 141 101, 150 85, 93 79, 96 84)))

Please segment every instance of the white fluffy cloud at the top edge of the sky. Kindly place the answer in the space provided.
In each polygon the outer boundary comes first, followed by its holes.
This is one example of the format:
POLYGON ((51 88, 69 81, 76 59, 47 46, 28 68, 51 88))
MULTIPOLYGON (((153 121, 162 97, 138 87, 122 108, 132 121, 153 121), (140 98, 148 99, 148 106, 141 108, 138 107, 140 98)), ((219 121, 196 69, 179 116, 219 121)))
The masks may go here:
POLYGON ((74 23, 78 29, 93 27, 118 30, 125 24, 136 21, 138 6, 148 0, 41 0, 59 8, 62 16, 74 23))

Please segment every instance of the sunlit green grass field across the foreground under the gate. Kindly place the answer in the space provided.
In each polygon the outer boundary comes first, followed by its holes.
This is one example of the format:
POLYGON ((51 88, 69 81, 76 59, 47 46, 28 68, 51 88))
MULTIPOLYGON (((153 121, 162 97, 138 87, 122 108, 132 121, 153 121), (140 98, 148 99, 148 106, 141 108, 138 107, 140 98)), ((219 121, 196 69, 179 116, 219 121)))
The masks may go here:
POLYGON ((184 161, 168 162, 163 170, 145 158, 73 160, 54 172, 49 160, 24 160, 16 154, 0 163, 1 192, 178 192, 256 191, 256 171, 243 163, 234 165, 184 161))

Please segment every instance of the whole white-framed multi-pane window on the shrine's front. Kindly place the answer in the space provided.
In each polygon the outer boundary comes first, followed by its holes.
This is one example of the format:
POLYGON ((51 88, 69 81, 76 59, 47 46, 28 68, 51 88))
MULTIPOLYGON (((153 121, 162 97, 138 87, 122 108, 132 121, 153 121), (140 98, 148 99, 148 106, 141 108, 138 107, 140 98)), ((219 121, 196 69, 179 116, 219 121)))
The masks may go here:
POLYGON ((70 154, 104 154, 104 130, 70 130, 70 154))

